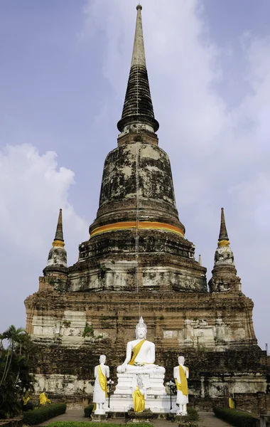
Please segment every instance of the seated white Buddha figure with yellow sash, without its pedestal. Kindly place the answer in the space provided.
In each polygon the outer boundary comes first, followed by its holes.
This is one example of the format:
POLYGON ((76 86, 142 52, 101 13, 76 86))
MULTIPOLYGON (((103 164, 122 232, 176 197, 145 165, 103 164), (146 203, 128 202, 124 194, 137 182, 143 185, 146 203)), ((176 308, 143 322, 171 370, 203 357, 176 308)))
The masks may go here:
POLYGON ((126 359, 117 367, 119 374, 165 374, 165 368, 154 364, 155 344, 146 339, 146 324, 141 317, 136 325, 136 339, 126 344, 126 359))

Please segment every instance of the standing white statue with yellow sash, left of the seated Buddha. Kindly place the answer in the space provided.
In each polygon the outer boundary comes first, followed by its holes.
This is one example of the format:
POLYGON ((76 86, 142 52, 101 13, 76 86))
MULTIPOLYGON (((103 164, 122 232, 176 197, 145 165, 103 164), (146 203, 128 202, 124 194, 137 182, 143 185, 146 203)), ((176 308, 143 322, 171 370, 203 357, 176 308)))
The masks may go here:
POLYGON ((95 367, 95 386, 93 402, 96 404, 95 414, 101 415, 105 413, 103 404, 106 402, 107 394, 107 378, 109 378, 109 367, 105 365, 106 356, 102 354, 99 357, 99 365, 95 367))

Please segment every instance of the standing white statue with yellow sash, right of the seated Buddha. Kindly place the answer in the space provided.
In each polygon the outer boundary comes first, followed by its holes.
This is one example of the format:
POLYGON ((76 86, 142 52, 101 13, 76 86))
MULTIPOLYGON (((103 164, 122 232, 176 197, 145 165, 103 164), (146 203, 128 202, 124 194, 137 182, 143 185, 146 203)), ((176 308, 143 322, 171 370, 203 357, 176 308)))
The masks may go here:
POLYGON ((176 404, 179 405, 179 409, 176 413, 178 415, 188 415, 187 404, 188 404, 188 376, 189 370, 184 366, 185 358, 183 356, 178 357, 179 366, 173 368, 173 377, 177 387, 176 404))

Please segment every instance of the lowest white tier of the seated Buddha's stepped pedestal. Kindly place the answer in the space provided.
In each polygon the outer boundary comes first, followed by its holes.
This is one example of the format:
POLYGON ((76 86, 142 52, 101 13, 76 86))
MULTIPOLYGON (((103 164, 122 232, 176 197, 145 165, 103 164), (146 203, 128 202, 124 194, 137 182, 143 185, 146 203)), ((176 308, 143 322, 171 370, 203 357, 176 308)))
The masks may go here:
MULTIPOLYGON (((112 412, 128 412, 134 408, 134 402, 131 394, 113 394, 110 398, 109 406, 112 412)), ((172 396, 172 411, 177 411, 176 397, 172 396)), ((150 409, 153 413, 170 413, 171 400, 170 396, 157 396, 153 394, 146 395, 146 409, 150 409)))

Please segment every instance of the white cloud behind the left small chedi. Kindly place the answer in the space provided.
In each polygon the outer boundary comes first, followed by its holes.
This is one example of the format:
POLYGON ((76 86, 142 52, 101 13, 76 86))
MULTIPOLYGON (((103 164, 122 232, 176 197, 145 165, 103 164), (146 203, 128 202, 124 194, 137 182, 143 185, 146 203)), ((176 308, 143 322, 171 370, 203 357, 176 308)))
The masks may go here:
POLYGON ((60 207, 70 264, 77 260, 78 243, 87 239, 87 223, 68 201, 74 173, 58 167, 56 158, 31 144, 0 152, 1 293, 9 307, 0 310, 2 329, 23 319, 23 300, 38 290, 60 207))

